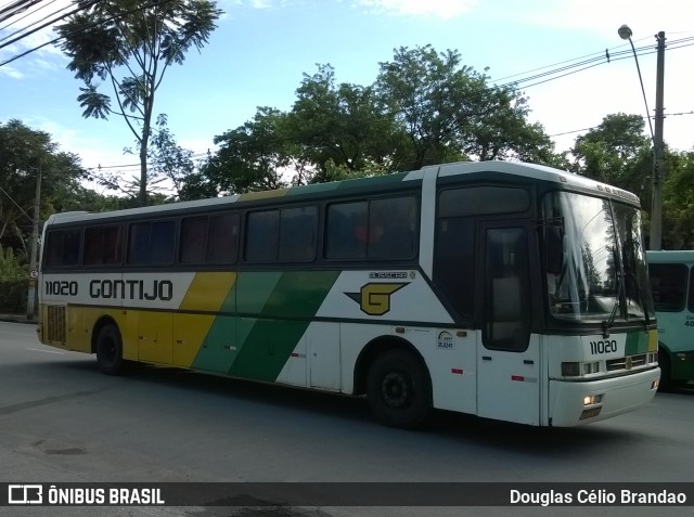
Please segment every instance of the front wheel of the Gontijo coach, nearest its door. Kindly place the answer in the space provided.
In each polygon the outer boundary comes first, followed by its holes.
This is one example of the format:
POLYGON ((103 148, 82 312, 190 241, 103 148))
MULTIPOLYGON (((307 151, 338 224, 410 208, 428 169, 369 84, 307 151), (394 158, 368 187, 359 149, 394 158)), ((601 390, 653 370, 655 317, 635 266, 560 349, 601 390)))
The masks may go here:
POLYGON ((422 363, 403 350, 389 350, 372 363, 367 397, 376 418, 390 427, 412 429, 432 406, 432 389, 422 363))

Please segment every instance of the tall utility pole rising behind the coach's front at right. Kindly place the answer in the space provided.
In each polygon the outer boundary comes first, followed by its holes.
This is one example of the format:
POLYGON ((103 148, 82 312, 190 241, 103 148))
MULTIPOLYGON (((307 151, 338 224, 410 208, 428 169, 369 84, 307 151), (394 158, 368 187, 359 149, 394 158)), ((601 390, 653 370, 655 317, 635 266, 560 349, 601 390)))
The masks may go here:
POLYGON ((665 33, 656 35, 658 41, 657 76, 655 89, 655 132, 653 135, 653 205, 651 206, 650 248, 663 248, 663 173, 665 170, 665 145, 663 143, 663 88, 665 74, 665 33))

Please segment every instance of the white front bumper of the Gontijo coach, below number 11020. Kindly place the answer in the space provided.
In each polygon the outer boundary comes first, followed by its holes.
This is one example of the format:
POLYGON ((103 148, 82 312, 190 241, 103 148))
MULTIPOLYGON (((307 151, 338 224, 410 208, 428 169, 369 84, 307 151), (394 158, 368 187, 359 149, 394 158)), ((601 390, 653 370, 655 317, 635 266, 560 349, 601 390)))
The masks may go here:
POLYGON ((550 380, 549 423, 570 427, 604 421, 635 410, 653 400, 660 369, 599 380, 550 380), (586 398, 592 403, 586 404, 586 398))

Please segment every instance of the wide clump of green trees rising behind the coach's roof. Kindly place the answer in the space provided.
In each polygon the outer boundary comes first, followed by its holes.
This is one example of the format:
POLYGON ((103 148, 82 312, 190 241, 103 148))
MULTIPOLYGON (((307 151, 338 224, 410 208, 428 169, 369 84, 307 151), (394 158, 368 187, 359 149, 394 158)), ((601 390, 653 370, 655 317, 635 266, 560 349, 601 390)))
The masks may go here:
POLYGON ((188 177, 181 198, 275 189, 466 159, 565 168, 565 155, 513 88, 461 65, 455 51, 400 48, 371 86, 338 83, 331 65, 304 74, 287 113, 258 108, 216 137, 220 150, 188 177))

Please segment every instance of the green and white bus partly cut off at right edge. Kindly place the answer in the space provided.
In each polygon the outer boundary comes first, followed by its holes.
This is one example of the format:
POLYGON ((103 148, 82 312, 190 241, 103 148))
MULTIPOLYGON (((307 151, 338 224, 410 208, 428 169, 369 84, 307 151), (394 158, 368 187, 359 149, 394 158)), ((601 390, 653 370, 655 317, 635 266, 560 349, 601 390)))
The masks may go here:
POLYGON ((683 385, 694 380, 694 250, 647 251, 646 257, 663 386, 683 385))

